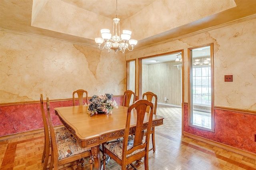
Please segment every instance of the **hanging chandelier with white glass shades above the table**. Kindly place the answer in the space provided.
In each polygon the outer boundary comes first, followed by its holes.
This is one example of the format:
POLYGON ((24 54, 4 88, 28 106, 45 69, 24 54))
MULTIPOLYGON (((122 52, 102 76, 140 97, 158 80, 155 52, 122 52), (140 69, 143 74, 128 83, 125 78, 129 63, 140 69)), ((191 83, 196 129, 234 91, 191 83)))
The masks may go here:
POLYGON ((113 33, 110 33, 109 29, 101 29, 101 37, 95 38, 95 42, 98 44, 99 49, 103 50, 104 48, 108 49, 108 52, 114 50, 115 53, 120 50, 122 53, 126 49, 129 51, 133 50, 133 47, 137 44, 137 40, 130 39, 132 31, 123 30, 120 36, 120 19, 117 18, 117 0, 116 0, 116 18, 113 19, 113 33), (114 34, 115 33, 115 34, 114 34), (113 35, 113 36, 112 36, 113 35), (104 42, 104 46, 101 48, 100 45, 104 42), (128 43, 131 45, 132 49, 128 48, 128 43))

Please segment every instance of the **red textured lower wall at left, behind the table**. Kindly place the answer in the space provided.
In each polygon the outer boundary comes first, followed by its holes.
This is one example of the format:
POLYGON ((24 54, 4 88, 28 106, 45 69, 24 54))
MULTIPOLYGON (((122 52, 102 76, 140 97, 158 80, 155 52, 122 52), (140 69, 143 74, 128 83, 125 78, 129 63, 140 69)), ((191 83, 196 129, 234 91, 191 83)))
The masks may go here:
MULTIPOLYGON (((118 105, 122 105, 123 97, 113 97, 118 105)), ((52 123, 61 125, 58 116, 55 115, 55 107, 73 106, 73 101, 50 102, 52 123)), ((44 102, 46 112, 46 102, 44 102)), ((47 114, 47 113, 46 113, 47 114)), ((47 116, 47 115, 46 115, 47 116)), ((40 102, 34 104, 21 104, 0 106, 0 136, 32 131, 44 128, 40 102)))

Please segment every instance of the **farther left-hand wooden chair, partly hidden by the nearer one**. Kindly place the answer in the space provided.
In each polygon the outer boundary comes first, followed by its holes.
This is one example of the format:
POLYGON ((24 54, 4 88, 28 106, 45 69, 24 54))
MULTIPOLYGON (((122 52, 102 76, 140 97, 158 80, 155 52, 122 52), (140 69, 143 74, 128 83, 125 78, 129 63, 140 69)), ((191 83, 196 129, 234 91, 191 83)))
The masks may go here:
MULTIPOLYGON (((43 100, 42 94, 40 94, 40 106, 41 106, 42 119, 44 123, 44 150, 42 154, 42 163, 44 163, 43 170, 46 170, 49 157, 51 156, 50 155, 51 138, 48 130, 48 124, 46 121, 46 115, 44 112, 44 100, 43 100)), ((61 141, 63 139, 72 137, 71 133, 65 127, 55 128, 54 132, 56 135, 56 141, 61 141)))

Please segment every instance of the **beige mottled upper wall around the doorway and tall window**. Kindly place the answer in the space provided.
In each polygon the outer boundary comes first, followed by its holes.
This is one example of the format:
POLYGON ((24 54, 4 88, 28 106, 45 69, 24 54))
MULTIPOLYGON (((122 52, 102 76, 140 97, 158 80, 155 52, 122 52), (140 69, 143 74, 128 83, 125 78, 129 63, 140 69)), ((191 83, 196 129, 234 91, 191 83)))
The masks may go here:
POLYGON ((214 43, 214 106, 256 111, 255 27, 256 19, 248 20, 132 51, 126 59, 184 49, 184 102, 188 102, 188 48, 214 43), (233 82, 224 82, 224 75, 233 75, 233 82))

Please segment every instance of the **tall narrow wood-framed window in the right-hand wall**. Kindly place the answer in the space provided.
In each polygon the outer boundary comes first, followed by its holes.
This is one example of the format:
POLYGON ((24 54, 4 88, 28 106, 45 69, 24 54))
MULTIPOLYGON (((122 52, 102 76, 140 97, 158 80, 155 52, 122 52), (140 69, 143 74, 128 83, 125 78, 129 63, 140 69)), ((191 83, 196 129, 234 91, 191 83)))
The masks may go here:
POLYGON ((214 131, 212 45, 189 50, 188 124, 214 131))

